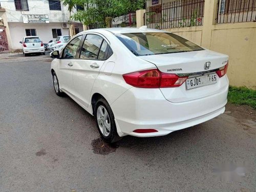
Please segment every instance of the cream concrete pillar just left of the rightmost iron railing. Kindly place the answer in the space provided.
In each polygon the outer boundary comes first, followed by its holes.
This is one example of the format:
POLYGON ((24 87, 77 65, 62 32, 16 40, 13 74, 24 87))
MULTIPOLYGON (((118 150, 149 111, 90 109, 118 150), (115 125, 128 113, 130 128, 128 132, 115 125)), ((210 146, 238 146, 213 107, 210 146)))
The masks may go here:
POLYGON ((210 49, 211 30, 216 24, 218 0, 205 1, 204 3, 204 23, 202 31, 201 46, 210 49))

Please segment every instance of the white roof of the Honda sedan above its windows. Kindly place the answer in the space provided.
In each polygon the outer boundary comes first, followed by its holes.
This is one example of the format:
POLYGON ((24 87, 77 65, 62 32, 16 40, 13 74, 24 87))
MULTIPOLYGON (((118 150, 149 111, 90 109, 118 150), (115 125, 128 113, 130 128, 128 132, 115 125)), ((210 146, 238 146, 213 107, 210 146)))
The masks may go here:
POLYGON ((118 28, 101 28, 101 29, 90 29, 87 31, 83 31, 83 32, 102 32, 102 31, 109 31, 113 34, 119 34, 119 33, 145 33, 145 32, 166 32, 163 30, 158 30, 158 29, 150 29, 150 28, 146 28, 145 26, 143 26, 144 28, 140 27, 140 28, 132 28, 132 27, 118 27, 118 28))

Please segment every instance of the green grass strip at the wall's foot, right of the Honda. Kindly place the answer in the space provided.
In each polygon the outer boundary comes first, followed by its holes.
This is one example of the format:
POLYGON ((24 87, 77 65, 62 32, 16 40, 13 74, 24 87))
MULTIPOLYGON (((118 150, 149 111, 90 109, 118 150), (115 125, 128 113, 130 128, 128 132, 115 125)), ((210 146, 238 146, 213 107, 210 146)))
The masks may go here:
POLYGON ((256 91, 245 87, 229 87, 228 102, 237 105, 248 105, 256 110, 256 91))

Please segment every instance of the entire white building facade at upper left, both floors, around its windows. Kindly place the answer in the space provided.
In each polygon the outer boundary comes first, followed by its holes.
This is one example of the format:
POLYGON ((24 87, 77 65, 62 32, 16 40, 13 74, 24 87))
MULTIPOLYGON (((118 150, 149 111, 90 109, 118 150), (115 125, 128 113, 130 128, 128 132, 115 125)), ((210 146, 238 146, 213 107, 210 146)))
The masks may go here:
MULTIPOLYGON (((2 8, 6 10, 5 14, 1 15, 3 15, 5 26, 7 26, 7 28, 9 27, 11 38, 9 40, 10 49, 21 48, 19 41, 26 36, 25 29, 36 29, 37 36, 39 36, 43 42, 55 40, 52 36, 52 29, 61 29, 62 35, 69 34, 69 29, 62 28, 63 23, 69 22, 69 11, 68 7, 63 6, 61 1, 61 11, 50 10, 49 1, 47 0, 28 0, 29 11, 17 11, 15 9, 14 0, 0 0, 0 2, 2 8), (22 17, 23 14, 47 14, 49 16, 49 24, 24 24, 22 17)), ((76 9, 73 9, 71 14, 74 14, 75 12, 76 9)))

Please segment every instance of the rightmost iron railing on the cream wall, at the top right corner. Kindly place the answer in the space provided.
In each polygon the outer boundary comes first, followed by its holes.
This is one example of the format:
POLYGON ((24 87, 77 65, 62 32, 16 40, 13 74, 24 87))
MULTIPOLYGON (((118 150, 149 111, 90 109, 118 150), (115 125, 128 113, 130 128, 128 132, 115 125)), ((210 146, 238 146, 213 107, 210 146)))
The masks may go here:
POLYGON ((256 22, 256 0, 218 0, 216 22, 256 22))

